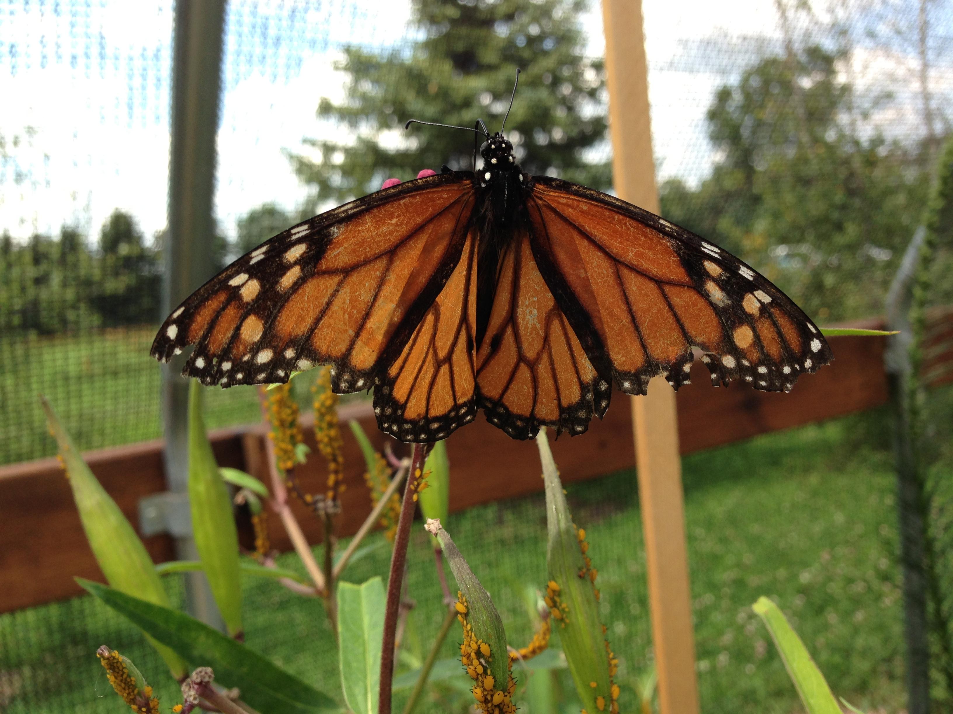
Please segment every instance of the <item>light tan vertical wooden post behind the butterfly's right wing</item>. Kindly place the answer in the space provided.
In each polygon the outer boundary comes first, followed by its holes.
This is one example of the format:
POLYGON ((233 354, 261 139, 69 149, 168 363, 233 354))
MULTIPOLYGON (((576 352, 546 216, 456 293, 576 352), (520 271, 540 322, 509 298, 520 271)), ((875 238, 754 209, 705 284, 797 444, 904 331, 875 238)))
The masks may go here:
MULTIPOLYGON (((602 0, 613 183, 619 198, 658 213, 641 10, 641 0, 602 0)), ((659 704, 662 714, 697 714, 675 391, 656 377, 633 397, 632 416, 659 704)))

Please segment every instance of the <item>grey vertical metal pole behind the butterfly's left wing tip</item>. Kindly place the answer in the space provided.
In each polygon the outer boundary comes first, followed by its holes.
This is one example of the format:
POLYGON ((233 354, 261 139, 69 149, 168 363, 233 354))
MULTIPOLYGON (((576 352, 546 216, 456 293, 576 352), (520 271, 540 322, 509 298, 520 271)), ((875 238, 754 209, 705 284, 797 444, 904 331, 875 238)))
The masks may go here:
MULTIPOLYGON (((172 59, 169 229, 162 314, 169 314, 213 273, 215 133, 221 89, 225 0, 178 0, 172 59)), ((184 356, 162 368, 166 481, 176 508, 188 513, 188 383, 184 356)), ((172 533, 178 558, 197 558, 191 528, 172 533)), ((186 608, 224 630, 204 573, 188 573, 186 608)))

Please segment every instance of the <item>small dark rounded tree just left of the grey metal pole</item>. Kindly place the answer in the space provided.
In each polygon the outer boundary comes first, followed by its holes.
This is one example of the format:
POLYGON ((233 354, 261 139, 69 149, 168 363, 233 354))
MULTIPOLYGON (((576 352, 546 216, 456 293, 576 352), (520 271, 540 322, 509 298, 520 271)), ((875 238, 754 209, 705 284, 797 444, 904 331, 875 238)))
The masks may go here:
POLYGON ((98 280, 91 304, 103 325, 152 323, 157 317, 162 279, 156 251, 145 245, 132 216, 112 212, 99 233, 98 280))

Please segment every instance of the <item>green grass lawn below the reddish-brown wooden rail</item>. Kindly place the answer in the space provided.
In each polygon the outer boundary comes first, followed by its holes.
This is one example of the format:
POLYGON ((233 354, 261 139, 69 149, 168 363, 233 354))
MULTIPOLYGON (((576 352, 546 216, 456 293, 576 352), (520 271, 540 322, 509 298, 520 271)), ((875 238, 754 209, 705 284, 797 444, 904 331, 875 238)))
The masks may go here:
MULTIPOLYGON (((864 709, 902 709, 902 598, 884 422, 882 412, 861 414, 684 459, 706 714, 801 710, 765 628, 750 610, 762 594, 791 618, 836 693, 864 709)), ((599 570, 602 616, 620 660, 621 711, 632 712, 633 685, 651 665, 635 474, 619 472, 569 486, 568 492, 599 570)), ((546 580, 544 523, 537 496, 473 508, 446 524, 494 597, 511 645, 524 645, 531 636, 523 593, 546 580)), ((442 618, 425 535, 416 526, 408 570, 416 608, 407 646, 418 652, 426 651, 442 618)), ((375 551, 355 563, 346 579, 385 575, 388 557, 387 548, 375 551)), ((294 558, 283 561, 294 565, 294 558)), ((169 583, 179 591, 176 580, 169 583)), ((339 697, 335 643, 322 606, 267 581, 247 581, 245 596, 248 643, 339 697)), ((455 629, 444 657, 454 655, 458 641, 455 629)), ((174 685, 141 636, 104 606, 77 598, 0 615, 0 709, 124 710, 93 655, 103 644, 130 656, 152 677, 164 709, 177 701, 174 685)), ((553 645, 558 647, 558 637, 553 645)), ((517 673, 517 679, 525 682, 526 676, 517 673)), ((468 683, 461 675, 437 684, 418 711, 463 712, 470 695, 460 690, 468 683)), ((552 684, 563 694, 562 711, 578 712, 564 674, 557 673, 552 684)), ((525 705, 522 710, 532 711, 525 705)))

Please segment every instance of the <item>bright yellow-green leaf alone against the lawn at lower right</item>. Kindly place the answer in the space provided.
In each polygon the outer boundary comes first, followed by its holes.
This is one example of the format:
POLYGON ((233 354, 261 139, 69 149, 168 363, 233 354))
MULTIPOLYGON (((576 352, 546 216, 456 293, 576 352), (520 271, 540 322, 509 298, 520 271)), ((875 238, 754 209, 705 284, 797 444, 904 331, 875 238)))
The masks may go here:
POLYGON ((797 687, 808 714, 841 714, 841 706, 834 699, 821 670, 814 664, 798 633, 787 622, 778 605, 762 596, 757 603, 751 605, 751 609, 758 613, 764 625, 767 625, 771 639, 781 652, 781 660, 784 661, 787 673, 797 687))

